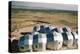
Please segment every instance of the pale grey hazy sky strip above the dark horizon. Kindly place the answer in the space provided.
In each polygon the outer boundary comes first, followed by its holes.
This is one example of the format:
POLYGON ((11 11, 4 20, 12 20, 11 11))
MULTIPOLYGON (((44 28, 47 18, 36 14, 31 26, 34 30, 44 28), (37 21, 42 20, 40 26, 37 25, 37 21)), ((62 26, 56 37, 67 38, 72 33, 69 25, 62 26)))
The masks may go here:
POLYGON ((13 1, 13 8, 24 8, 24 9, 59 9, 59 10, 73 10, 77 11, 77 5, 70 4, 56 4, 56 3, 36 3, 36 2, 20 2, 13 1))

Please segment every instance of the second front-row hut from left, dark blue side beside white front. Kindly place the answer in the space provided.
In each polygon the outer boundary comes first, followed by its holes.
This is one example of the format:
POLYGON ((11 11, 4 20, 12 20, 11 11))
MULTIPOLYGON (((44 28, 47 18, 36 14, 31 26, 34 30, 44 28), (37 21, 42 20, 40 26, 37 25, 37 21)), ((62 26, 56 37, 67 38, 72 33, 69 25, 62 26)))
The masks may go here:
POLYGON ((46 50, 46 34, 37 33, 33 35, 33 51, 46 50))

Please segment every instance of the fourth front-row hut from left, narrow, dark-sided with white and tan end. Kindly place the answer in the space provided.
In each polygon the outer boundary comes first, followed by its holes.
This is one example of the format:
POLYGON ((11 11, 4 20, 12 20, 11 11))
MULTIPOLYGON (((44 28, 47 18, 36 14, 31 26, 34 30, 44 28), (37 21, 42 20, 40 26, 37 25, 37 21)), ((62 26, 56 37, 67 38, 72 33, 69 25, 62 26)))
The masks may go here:
POLYGON ((62 33, 63 45, 71 47, 73 45, 73 35, 70 32, 62 33))

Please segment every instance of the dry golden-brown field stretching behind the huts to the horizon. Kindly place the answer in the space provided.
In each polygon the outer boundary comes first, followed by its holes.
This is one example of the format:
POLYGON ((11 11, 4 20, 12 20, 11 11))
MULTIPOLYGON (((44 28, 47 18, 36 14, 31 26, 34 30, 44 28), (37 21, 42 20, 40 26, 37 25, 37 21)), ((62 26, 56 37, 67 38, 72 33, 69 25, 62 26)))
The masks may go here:
POLYGON ((38 23, 48 23, 56 27, 69 26, 72 31, 78 29, 77 11, 62 10, 11 10, 11 36, 20 36, 20 32, 31 32, 38 23))

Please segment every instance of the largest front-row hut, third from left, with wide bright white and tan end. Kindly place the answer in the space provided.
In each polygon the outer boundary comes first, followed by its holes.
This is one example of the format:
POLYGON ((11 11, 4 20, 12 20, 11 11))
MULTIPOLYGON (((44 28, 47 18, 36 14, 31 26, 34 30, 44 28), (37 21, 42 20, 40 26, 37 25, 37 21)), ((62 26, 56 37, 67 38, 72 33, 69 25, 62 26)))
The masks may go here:
POLYGON ((63 37, 60 33, 53 32, 47 34, 47 48, 48 49, 60 49, 63 44, 63 37))

